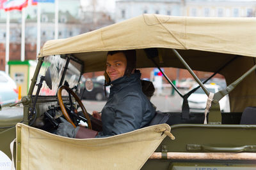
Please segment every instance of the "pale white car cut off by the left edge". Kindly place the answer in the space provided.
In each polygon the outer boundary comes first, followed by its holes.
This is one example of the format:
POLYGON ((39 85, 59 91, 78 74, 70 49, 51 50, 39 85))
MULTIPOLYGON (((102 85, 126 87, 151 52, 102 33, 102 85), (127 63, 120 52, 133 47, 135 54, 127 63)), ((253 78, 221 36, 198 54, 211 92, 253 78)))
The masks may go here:
POLYGON ((0 71, 0 104, 16 103, 18 90, 15 81, 4 71, 0 71))

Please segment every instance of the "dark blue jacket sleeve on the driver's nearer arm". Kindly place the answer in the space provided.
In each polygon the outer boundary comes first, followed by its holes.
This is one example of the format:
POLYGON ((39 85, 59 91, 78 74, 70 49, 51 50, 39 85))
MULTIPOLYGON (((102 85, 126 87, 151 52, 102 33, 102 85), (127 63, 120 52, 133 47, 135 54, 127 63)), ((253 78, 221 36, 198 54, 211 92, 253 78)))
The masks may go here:
MULTIPOLYGON (((140 128, 143 119, 143 99, 136 92, 129 92, 115 106, 115 121, 111 135, 122 134, 140 128)), ((108 137, 101 133, 96 138, 108 137)))

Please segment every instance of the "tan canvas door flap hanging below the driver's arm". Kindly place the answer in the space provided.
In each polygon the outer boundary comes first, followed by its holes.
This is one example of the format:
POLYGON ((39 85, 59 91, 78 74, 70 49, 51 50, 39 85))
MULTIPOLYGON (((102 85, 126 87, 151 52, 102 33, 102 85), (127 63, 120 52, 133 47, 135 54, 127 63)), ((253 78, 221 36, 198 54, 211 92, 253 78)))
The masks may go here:
POLYGON ((20 169, 140 169, 166 137, 154 125, 108 138, 72 139, 17 124, 20 169), (18 139, 20 138, 20 139, 18 139))

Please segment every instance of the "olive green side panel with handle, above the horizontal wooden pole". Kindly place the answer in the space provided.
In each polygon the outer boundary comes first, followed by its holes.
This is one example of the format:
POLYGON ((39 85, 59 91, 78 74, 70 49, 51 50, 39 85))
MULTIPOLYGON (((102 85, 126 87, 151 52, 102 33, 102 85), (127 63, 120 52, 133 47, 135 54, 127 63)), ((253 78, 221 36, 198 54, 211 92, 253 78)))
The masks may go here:
MULTIPOLYGON (((166 145, 168 152, 216 152, 218 148, 222 148, 222 152, 241 152, 237 147, 246 145, 253 148, 244 149, 244 152, 255 152, 256 137, 250 136, 255 131, 256 125, 172 125, 176 139, 166 138, 161 145, 166 145)), ((156 152, 161 152, 161 145, 156 152)))

